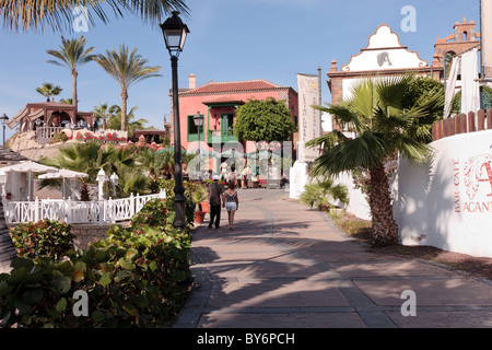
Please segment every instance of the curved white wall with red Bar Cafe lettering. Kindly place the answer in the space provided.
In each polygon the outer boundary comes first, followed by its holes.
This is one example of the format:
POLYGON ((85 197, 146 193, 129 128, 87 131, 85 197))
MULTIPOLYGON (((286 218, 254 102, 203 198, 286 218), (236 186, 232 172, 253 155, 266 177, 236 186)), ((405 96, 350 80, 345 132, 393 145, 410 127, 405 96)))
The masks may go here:
POLYGON ((395 212, 402 244, 492 257, 492 130, 431 145, 432 164, 399 164, 395 212))

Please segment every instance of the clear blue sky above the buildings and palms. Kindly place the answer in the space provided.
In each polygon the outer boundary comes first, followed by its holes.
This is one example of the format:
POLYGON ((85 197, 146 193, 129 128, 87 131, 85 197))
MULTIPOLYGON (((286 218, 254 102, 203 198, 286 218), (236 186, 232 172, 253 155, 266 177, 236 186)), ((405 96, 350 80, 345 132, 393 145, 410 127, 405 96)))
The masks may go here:
MULTIPOLYGON (((326 73, 367 45, 367 38, 383 23, 399 35, 400 43, 432 63, 437 36, 447 37, 457 21, 473 20, 480 28, 479 0, 188 0, 189 18, 183 18, 190 33, 178 61, 179 88, 188 88, 188 75, 197 85, 225 81, 265 79, 297 91, 297 73, 317 74, 321 69, 323 103, 331 100, 326 73), (402 12, 414 9, 414 18, 402 12), (409 27, 409 20, 414 20, 409 27)), ((3 24, 3 23, 2 23, 3 24)), ((86 32, 12 33, 0 28, 0 115, 10 118, 27 103, 44 102, 36 92, 44 82, 60 85, 56 97, 70 98, 70 71, 47 63, 48 49, 59 49, 66 38, 83 35, 96 54, 125 44, 160 66, 160 78, 139 82, 128 91, 128 109, 145 127, 163 128, 169 120, 171 61, 159 27, 138 16, 96 21, 86 32)), ((79 110, 91 112, 99 103, 120 105, 120 90, 96 62, 84 65, 78 78, 79 110)), ((5 137, 15 132, 7 128, 5 137)))

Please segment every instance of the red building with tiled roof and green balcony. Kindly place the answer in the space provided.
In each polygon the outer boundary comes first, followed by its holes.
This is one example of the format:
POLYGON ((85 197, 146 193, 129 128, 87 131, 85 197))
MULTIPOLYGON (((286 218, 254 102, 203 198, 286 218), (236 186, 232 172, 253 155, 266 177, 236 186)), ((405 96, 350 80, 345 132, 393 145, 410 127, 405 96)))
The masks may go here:
MULTIPOLYGON (((196 86, 196 75, 189 75, 189 89, 179 90, 179 126, 181 147, 197 150, 200 138, 201 149, 216 150, 218 144, 238 142, 233 132, 235 110, 248 100, 266 100, 273 97, 285 101, 296 124, 298 115, 297 92, 291 86, 281 86, 263 79, 231 82, 209 82, 196 86), (198 130, 194 122, 197 113, 204 116, 203 126, 198 130)), ((171 103, 173 98, 171 96, 171 103)), ((171 108, 173 112, 173 106, 171 108)), ((173 116, 171 120, 173 120, 173 116)), ((174 128, 172 126, 172 133, 174 128)), ((293 135, 295 141, 296 135, 293 135)), ((174 140, 174 137, 171 138, 174 140)), ((241 142, 245 153, 254 151, 251 141, 241 142)), ((295 142, 293 142, 293 145, 295 142)), ((292 154, 295 154, 293 151, 292 154)))

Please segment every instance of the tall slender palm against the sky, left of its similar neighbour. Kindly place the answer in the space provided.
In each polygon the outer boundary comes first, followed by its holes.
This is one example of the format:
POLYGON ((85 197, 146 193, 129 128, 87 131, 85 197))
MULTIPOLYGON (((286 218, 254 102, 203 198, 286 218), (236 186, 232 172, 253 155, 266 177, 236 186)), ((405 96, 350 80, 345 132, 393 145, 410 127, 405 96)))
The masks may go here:
POLYGON ((61 46, 60 50, 47 50, 48 55, 51 55, 56 58, 56 60, 50 59, 48 63, 52 63, 56 66, 61 66, 70 69, 70 73, 72 75, 72 104, 78 105, 77 100, 77 77, 79 75, 79 68, 86 62, 90 62, 94 55, 91 55, 92 51, 95 50, 94 46, 85 49, 85 44, 87 40, 80 36, 74 39, 65 39, 61 37, 61 46))

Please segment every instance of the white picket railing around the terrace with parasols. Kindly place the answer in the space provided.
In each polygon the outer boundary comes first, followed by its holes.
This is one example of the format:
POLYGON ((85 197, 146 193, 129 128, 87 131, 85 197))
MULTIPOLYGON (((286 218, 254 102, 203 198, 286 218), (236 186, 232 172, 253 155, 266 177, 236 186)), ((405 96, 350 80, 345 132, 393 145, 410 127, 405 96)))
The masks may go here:
POLYGON ((115 223, 130 220, 151 199, 166 198, 160 194, 131 196, 121 199, 75 201, 69 199, 37 199, 34 201, 3 201, 7 223, 57 220, 66 223, 115 223))

